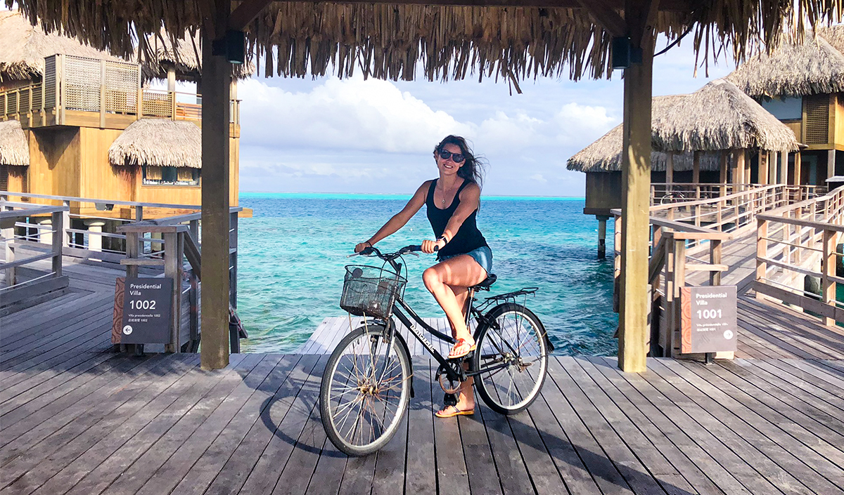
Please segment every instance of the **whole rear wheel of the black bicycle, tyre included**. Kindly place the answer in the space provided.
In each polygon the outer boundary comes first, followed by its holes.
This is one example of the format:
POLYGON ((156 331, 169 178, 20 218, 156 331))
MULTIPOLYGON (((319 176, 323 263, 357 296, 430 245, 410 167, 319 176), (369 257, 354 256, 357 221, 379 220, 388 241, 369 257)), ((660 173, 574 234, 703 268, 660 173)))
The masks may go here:
POLYGON ((539 396, 548 370, 545 327, 525 306, 505 303, 487 313, 491 323, 478 331, 474 383, 496 413, 523 411, 539 396))

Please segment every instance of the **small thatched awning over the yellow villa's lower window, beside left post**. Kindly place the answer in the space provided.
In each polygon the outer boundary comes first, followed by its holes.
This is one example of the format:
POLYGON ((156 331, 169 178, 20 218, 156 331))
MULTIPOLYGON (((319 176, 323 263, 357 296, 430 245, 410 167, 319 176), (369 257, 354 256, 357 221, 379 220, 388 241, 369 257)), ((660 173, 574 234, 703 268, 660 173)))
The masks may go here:
POLYGON ((184 120, 141 119, 111 144, 112 165, 202 168, 202 132, 184 120))

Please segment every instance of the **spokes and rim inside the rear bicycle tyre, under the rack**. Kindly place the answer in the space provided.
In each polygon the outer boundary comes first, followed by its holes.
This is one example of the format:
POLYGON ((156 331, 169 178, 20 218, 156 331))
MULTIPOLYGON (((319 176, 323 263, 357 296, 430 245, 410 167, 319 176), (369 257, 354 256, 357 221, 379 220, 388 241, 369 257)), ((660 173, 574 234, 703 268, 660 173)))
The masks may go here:
POLYGON ((503 409, 518 409, 533 400, 545 373, 544 330, 520 311, 495 319, 480 343, 476 380, 503 409))

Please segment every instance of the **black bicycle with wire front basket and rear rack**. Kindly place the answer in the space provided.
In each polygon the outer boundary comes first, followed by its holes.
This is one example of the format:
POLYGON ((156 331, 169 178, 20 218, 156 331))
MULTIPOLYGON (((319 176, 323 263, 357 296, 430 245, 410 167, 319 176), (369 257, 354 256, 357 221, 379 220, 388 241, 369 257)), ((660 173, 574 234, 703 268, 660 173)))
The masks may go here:
POLYGON ((414 396, 408 344, 396 332, 393 318, 398 318, 439 363, 435 379, 446 392, 446 399, 454 403, 457 400, 453 394, 470 377, 475 379, 481 399, 501 414, 524 410, 542 389, 548 355, 554 347, 539 318, 517 302, 517 297, 533 295, 538 287, 492 295, 477 305, 475 293, 490 290, 495 274, 470 287, 466 323, 468 327, 472 318, 477 322, 477 348, 463 358, 447 359, 419 327, 447 343, 453 344, 454 339, 425 323, 403 299, 407 279, 401 275, 402 257, 419 251, 421 246, 406 246, 396 253, 365 248, 358 254, 381 258, 381 268, 346 267, 340 307, 365 319, 333 350, 322 374, 319 400, 328 439, 347 455, 369 455, 386 445, 398 431, 414 396))

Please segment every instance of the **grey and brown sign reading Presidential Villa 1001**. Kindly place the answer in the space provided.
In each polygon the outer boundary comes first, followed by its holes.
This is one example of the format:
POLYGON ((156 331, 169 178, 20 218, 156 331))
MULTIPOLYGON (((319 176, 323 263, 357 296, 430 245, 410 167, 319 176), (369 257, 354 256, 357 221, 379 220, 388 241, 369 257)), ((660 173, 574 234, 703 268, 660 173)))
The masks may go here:
POLYGON ((736 286, 684 287, 680 352, 736 350, 736 286))

